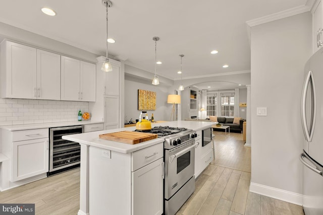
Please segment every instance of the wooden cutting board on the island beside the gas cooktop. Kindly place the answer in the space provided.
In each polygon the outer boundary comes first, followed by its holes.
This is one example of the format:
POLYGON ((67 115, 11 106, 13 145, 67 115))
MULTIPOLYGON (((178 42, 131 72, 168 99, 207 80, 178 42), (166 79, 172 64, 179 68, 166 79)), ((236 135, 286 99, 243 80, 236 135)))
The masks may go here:
POLYGON ((100 134, 99 138, 124 142, 125 144, 139 144, 139 142, 157 138, 157 134, 136 131, 119 131, 114 133, 100 134))

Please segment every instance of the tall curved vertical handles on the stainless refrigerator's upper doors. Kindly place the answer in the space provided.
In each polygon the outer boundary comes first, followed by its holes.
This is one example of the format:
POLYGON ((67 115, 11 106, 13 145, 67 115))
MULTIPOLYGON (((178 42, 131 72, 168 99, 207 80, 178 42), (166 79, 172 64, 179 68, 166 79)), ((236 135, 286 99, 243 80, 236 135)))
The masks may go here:
POLYGON ((306 76, 306 79, 304 81, 303 85, 303 91, 302 91, 302 98, 301 98, 301 121, 303 126, 303 132, 306 141, 310 142, 312 141, 313 132, 314 132, 314 126, 315 126, 315 117, 316 117, 316 96, 315 96, 315 85, 313 80, 313 74, 312 71, 308 71, 308 74, 306 76), (306 123, 306 113, 305 113, 305 106, 306 106, 306 93, 307 93, 307 87, 309 82, 311 82, 311 118, 310 118, 310 130, 307 127, 306 123))

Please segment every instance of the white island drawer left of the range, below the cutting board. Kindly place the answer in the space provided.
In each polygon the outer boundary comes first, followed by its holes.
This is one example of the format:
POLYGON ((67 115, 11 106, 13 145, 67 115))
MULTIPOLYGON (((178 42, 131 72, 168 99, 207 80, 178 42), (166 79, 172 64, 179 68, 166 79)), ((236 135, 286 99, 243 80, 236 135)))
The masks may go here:
POLYGON ((156 144, 154 146, 148 147, 143 150, 139 150, 132 153, 131 171, 136 171, 137 169, 150 164, 163 158, 164 156, 164 142, 156 144))

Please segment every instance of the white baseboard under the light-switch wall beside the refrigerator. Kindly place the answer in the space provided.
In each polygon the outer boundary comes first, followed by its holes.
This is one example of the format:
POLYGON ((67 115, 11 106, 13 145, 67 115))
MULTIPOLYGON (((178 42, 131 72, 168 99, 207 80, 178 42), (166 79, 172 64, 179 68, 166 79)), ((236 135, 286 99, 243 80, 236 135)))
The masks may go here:
POLYGON ((250 192, 276 198, 282 201, 287 201, 297 205, 303 205, 302 194, 282 190, 274 187, 265 186, 262 184, 250 183, 250 192))

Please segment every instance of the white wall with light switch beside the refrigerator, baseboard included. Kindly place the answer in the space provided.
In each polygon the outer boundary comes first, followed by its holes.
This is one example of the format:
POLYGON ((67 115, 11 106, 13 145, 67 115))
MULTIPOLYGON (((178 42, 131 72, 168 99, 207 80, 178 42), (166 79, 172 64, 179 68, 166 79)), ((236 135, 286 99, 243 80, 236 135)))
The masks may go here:
POLYGON ((250 191, 298 204, 303 139, 300 94, 310 54, 309 12, 251 28, 250 191), (267 116, 256 116, 256 107, 267 107, 267 116))

